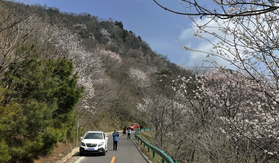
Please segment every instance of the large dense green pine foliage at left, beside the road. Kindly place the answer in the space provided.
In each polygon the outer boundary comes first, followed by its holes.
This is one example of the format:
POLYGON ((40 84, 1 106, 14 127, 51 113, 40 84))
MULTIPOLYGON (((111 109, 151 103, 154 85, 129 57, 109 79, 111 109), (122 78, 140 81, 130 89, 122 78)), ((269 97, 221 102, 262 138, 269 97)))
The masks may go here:
POLYGON ((82 93, 77 77, 65 58, 37 55, 11 64, 0 83, 0 162, 32 162, 65 137, 73 139, 74 109, 82 93))

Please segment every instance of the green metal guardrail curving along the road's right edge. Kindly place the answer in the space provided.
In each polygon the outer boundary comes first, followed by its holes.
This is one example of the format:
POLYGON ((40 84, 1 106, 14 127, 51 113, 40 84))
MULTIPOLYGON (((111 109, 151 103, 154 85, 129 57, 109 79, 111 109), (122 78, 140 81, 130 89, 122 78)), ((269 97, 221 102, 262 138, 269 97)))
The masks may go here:
POLYGON ((143 143, 143 146, 145 148, 145 146, 148 147, 148 152, 150 152, 150 149, 153 151, 153 158, 155 158, 155 153, 157 153, 159 156, 161 156, 162 158, 162 163, 164 163, 165 161, 168 162, 168 163, 176 163, 176 159, 172 159, 170 156, 168 156, 167 154, 165 154, 165 151, 162 151, 161 149, 158 149, 156 148, 155 146, 149 144, 148 142, 146 142, 145 140, 143 140, 139 135, 138 135, 138 132, 141 133, 141 131, 146 131, 146 130, 150 130, 153 129, 153 128, 145 128, 145 129, 138 129, 136 132, 135 132, 135 138, 136 140, 141 141, 141 145, 143 143))

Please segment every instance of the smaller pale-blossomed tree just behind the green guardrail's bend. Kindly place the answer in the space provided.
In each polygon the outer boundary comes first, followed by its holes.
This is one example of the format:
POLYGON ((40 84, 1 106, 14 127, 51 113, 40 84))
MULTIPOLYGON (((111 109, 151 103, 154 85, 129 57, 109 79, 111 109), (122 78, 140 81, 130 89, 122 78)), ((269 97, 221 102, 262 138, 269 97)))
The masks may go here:
POLYGON ((166 134, 171 132, 174 136, 174 123, 181 122, 184 117, 184 104, 178 100, 179 96, 170 94, 168 90, 153 89, 142 103, 137 104, 137 109, 142 112, 149 126, 156 128, 154 137, 158 141, 155 145, 162 150, 166 147, 165 140, 171 136, 166 134))

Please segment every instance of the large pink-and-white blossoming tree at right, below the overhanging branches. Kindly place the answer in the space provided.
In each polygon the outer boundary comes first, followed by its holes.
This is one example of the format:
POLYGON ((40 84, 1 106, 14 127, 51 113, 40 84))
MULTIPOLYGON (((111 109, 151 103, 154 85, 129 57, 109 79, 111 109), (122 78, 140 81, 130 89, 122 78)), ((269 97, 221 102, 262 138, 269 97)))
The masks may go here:
POLYGON ((261 156, 277 160, 278 105, 243 74, 218 70, 181 77, 173 89, 190 104, 188 112, 198 130, 207 132, 218 126, 237 150, 250 151, 256 160, 261 156))

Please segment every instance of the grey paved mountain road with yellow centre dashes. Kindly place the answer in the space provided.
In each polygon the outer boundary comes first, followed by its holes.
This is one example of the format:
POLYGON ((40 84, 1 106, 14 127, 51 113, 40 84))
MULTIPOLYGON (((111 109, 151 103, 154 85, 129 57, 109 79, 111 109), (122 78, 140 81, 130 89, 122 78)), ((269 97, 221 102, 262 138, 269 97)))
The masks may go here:
MULTIPOLYGON (((113 151, 113 139, 112 135, 107 135, 108 137, 108 152, 106 152, 105 156, 101 155, 86 155, 79 156, 77 153, 72 158, 64 161, 64 163, 134 163, 134 162, 147 162, 141 153, 138 151, 138 148, 132 142, 131 139, 127 139, 127 135, 123 136, 122 133, 119 132, 118 137, 118 149, 117 151, 113 151), (114 161, 113 161, 114 160, 114 161)), ((131 132, 131 136, 134 135, 134 131, 131 132)))

